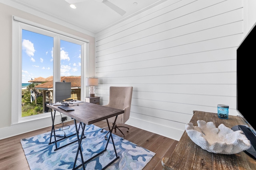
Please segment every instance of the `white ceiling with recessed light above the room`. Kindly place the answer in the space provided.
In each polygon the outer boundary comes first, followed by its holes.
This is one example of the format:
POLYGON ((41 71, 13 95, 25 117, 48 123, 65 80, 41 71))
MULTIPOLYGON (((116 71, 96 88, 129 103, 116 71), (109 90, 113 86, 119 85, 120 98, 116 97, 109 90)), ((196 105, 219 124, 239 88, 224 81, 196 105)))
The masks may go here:
POLYGON ((10 1, 12 4, 28 7, 58 20, 70 23, 81 29, 85 29, 92 33, 98 33, 107 27, 126 20, 166 0, 108 0, 109 2, 112 2, 112 4, 115 4, 122 10, 126 11, 123 16, 109 8, 106 4, 102 3, 102 0, 84 0, 84 2, 74 3, 76 5, 76 9, 70 8, 69 3, 65 0, 4 1, 10 1), (134 5, 135 2, 137 5, 134 5))

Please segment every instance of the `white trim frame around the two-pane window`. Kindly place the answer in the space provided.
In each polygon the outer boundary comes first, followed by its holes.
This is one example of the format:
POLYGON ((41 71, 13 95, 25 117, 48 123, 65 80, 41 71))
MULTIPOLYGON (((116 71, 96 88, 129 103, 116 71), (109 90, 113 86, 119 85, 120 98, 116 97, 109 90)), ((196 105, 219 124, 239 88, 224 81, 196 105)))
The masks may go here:
MULTIPOLYGON (((81 45, 81 100, 84 100, 86 96, 85 77, 88 77, 88 55, 89 55, 89 40, 76 37, 74 35, 58 31, 56 29, 46 27, 44 25, 34 23, 32 21, 25 20, 13 16, 12 20, 12 119, 11 125, 24 123, 27 121, 34 121, 38 119, 44 119, 50 117, 50 113, 42 113, 38 115, 32 115, 28 117, 21 117, 21 92, 22 92, 22 29, 27 29, 36 33, 42 33, 54 37, 54 47, 60 46, 57 40, 68 40, 73 43, 81 45), (58 46, 57 46, 58 45, 58 46)), ((56 49, 56 48, 54 48, 56 49)), ((57 48, 58 49, 58 48, 57 48)), ((60 81, 60 63, 56 61, 56 51, 54 53, 54 82, 60 81), (59 68, 59 69, 58 69, 59 68)), ((54 87, 55 89, 55 87, 54 87)))

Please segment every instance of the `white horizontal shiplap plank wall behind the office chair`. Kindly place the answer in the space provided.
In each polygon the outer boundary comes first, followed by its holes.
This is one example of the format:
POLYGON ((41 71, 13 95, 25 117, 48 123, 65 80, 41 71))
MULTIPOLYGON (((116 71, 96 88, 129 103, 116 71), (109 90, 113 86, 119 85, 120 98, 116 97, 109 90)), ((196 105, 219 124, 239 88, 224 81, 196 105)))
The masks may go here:
POLYGON ((133 86, 129 125, 179 140, 193 110, 236 112, 240 0, 167 0, 96 35, 96 96, 133 86))

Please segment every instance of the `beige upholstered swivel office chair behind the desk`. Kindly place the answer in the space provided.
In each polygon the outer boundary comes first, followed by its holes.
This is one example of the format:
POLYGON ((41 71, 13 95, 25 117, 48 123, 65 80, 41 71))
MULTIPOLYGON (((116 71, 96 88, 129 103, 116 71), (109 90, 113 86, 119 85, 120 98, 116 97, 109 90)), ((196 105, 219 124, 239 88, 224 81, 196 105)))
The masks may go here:
MULTIPOLYGON (((132 102, 132 87, 110 86, 108 104, 103 105, 103 106, 107 106, 107 107, 113 107, 116 109, 124 110, 123 114, 118 115, 115 125, 114 125, 115 117, 111 117, 108 119, 108 122, 113 124, 115 133, 116 133, 116 129, 118 129, 122 133, 122 135, 123 135, 122 139, 124 139, 124 133, 119 128, 124 127, 127 129, 126 130, 127 132, 129 131, 129 128, 125 127, 125 126, 117 126, 116 124, 118 124, 118 123, 124 124, 129 119, 131 102, 132 102)), ((101 132, 105 128, 107 128, 107 127, 102 128, 101 132)), ((108 131, 108 133, 109 133, 109 131, 108 131)), ((105 135, 105 139, 108 139, 107 138, 108 133, 105 135)))

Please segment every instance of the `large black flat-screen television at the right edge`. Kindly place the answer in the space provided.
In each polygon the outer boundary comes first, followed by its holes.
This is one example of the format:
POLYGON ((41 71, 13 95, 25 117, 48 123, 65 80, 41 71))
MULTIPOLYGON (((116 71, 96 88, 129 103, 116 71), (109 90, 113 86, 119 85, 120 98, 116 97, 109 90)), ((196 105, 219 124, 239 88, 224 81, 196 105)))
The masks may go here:
POLYGON ((250 140, 252 147, 245 152, 256 159, 256 111, 254 108, 254 67, 256 63, 253 62, 253 57, 256 55, 256 23, 252 26, 250 31, 244 37, 236 50, 236 110, 238 114, 243 117, 247 126, 238 125, 233 127, 235 130, 242 130, 246 137, 250 140))

